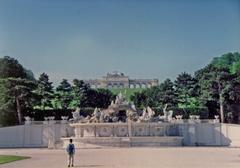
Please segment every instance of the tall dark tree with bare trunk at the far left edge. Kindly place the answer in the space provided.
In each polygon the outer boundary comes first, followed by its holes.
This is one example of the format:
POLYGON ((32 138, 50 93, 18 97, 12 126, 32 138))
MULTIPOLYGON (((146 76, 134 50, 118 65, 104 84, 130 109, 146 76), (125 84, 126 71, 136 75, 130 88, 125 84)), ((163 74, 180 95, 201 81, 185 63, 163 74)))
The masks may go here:
POLYGON ((34 80, 14 58, 0 58, 0 125, 22 123, 24 111, 33 104, 34 80))

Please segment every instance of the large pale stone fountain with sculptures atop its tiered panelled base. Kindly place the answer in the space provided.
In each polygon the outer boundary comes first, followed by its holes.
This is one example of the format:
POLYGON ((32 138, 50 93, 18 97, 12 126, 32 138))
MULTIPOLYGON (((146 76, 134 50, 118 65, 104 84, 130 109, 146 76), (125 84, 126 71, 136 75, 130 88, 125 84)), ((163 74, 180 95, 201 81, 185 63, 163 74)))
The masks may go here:
MULTIPOLYGON (((166 108, 162 120, 150 107, 137 111, 120 92, 107 109, 95 108, 92 116, 83 118, 77 109, 70 124, 75 136, 69 138, 76 147, 181 146, 183 138, 166 108)), ((69 138, 62 138, 64 147, 69 138)))

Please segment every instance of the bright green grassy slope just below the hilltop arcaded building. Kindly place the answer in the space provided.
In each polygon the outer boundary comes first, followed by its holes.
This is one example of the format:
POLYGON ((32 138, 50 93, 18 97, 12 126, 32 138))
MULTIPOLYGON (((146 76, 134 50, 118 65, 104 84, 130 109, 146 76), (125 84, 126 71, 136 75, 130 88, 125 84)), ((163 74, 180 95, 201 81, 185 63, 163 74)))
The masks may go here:
POLYGON ((130 101, 130 96, 133 95, 135 92, 141 92, 143 90, 143 88, 111 88, 109 90, 115 95, 122 92, 124 97, 128 101, 130 101))

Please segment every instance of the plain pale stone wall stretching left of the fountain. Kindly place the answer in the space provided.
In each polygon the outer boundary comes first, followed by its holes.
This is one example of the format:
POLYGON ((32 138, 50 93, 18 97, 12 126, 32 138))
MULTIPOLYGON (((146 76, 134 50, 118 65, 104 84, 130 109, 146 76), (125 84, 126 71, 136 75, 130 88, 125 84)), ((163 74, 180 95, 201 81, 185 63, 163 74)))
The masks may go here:
POLYGON ((61 138, 73 135, 68 124, 20 125, 0 128, 0 148, 61 146, 61 138))

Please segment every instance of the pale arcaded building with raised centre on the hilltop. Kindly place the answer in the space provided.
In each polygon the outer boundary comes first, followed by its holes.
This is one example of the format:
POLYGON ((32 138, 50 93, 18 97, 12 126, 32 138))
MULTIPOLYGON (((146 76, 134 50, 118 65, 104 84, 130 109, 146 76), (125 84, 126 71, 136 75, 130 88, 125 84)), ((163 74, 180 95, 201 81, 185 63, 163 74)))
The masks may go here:
POLYGON ((92 88, 150 88, 158 85, 158 79, 130 79, 120 72, 107 73, 102 79, 84 80, 92 88))

